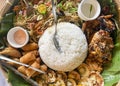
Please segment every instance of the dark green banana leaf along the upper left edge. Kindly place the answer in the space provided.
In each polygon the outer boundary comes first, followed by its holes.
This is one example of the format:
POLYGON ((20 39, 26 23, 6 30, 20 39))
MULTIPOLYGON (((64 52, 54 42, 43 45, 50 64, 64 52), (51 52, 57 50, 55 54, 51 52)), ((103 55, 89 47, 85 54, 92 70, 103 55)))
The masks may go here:
POLYGON ((8 31, 13 27, 13 20, 15 13, 13 12, 13 6, 18 3, 19 0, 15 0, 8 12, 3 16, 0 22, 0 50, 5 48, 3 38, 6 37, 8 31))

